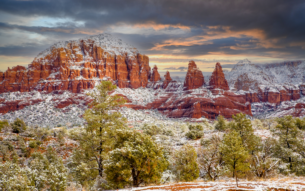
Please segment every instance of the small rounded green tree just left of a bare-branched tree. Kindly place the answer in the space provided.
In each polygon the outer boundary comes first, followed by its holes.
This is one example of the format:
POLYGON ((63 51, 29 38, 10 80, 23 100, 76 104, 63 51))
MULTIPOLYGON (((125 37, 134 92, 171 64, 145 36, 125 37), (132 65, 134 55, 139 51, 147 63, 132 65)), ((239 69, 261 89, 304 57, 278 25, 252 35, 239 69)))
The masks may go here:
POLYGON ((183 145, 174 152, 174 168, 180 180, 187 182, 199 177, 196 149, 192 145, 183 145))

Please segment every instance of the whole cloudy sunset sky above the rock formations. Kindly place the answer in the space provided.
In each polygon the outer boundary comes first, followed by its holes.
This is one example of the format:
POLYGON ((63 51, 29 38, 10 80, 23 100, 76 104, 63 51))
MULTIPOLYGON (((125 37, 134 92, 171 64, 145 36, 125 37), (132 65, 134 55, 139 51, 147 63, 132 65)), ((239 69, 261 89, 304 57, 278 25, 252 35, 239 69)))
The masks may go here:
POLYGON ((304 0, 0 0, 0 70, 27 66, 59 41, 110 33, 161 76, 216 62, 305 59, 304 0))

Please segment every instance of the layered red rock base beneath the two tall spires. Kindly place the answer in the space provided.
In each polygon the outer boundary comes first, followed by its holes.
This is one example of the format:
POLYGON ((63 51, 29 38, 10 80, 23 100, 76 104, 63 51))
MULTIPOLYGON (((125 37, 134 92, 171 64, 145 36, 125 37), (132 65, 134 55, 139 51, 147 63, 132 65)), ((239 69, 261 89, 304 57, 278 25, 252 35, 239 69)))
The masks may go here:
POLYGON ((246 101, 243 95, 237 95, 231 91, 215 89, 211 90, 212 95, 208 95, 208 91, 202 89, 199 94, 194 94, 195 91, 193 90, 178 91, 179 84, 173 81, 167 89, 171 91, 159 94, 146 107, 148 109, 158 109, 167 117, 173 118, 205 117, 214 119, 219 114, 231 118, 232 114, 240 112, 252 115, 250 103, 246 101))

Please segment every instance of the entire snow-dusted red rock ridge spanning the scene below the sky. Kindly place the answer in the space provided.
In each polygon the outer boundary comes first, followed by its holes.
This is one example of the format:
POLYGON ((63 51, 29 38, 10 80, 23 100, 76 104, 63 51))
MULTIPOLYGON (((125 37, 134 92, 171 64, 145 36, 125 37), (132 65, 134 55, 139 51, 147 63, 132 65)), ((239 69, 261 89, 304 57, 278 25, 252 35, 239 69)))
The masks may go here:
MULTIPOLYGON (((295 65, 303 66, 302 63, 295 65)), ((0 92, 41 92, 61 97, 60 94, 70 90, 71 97, 54 100, 54 107, 66 111, 71 105, 86 107, 90 98, 85 92, 101 80, 111 80, 119 87, 113 94, 127 100, 124 107, 156 109, 170 118, 212 119, 219 114, 226 118, 239 112, 257 114, 256 111, 266 107, 271 111, 282 102, 301 100, 305 94, 305 84, 278 84, 263 67, 257 67, 247 59, 237 63, 231 72, 224 72, 221 64, 216 63, 208 85, 194 61, 188 63, 184 83, 172 80, 168 71, 161 80, 157 69, 155 65, 150 71, 148 57, 139 54, 133 46, 102 34, 56 43, 41 52, 29 69, 17 66, 3 75, 0 73, 0 92), (133 95, 135 89, 139 92, 137 96, 133 95)), ((0 113, 18 111, 44 101, 2 98, 0 113)), ((305 114, 302 105, 296 104, 289 105, 289 108, 298 109, 295 115, 305 114)))

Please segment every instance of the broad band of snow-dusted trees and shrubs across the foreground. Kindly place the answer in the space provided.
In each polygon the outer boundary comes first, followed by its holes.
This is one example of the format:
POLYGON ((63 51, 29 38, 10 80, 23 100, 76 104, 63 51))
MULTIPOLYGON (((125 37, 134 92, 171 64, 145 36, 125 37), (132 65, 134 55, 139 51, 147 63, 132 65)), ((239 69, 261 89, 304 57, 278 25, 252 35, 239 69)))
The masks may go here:
POLYGON ((84 127, 47 128, 22 119, 2 120, 1 189, 105 190, 196 179, 234 178, 237 183, 305 175, 304 119, 251 121, 240 113, 231 121, 219 117, 189 123, 163 120, 156 112, 153 120, 133 121, 137 125, 128 128, 128 109, 113 112, 124 102, 108 95, 115 88, 105 81, 92 92, 84 127))

